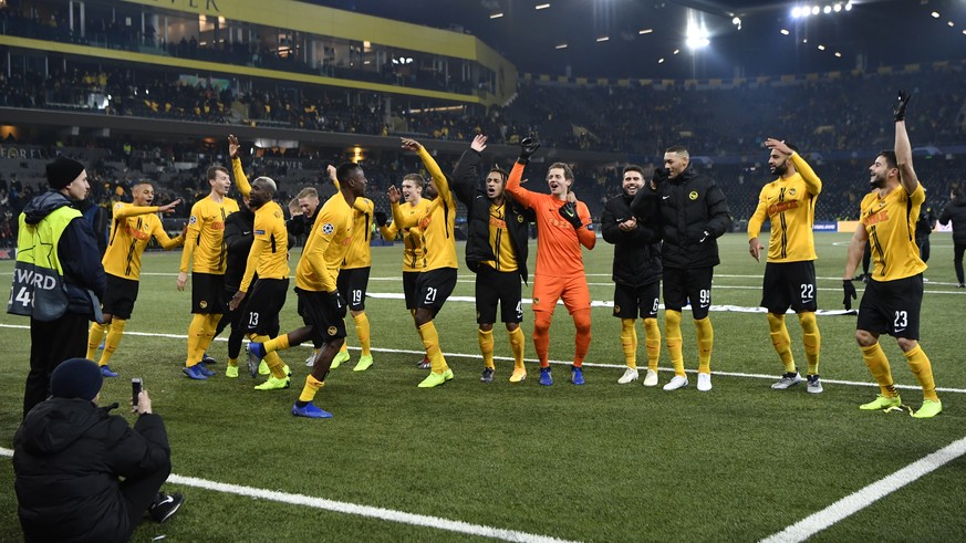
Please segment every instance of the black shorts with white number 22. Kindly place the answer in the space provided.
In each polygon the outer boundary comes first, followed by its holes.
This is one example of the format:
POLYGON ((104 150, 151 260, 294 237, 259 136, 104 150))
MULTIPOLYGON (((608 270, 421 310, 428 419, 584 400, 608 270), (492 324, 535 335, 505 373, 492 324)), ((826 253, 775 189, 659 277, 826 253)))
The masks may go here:
POLYGON ((816 288, 816 262, 767 262, 761 286, 761 306, 769 313, 785 314, 819 309, 816 288))

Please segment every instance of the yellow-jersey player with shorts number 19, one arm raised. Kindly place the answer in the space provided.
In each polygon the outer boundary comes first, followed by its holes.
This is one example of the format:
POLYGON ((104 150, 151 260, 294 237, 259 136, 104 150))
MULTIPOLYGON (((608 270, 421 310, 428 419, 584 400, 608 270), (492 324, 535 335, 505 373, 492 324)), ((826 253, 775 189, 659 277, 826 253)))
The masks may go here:
MULTIPOLYGON (((238 140, 231 136, 229 142, 229 154, 233 159, 238 155, 238 140)), ((208 168, 207 178, 211 192, 191 206, 177 283, 178 290, 184 291, 190 267, 191 313, 195 316, 188 326, 188 354, 184 372, 188 377, 201 380, 215 375, 199 364, 215 337, 218 321, 227 309, 228 301, 224 294, 228 253, 224 239, 225 219, 238 211, 238 202, 228 198, 228 190, 231 188, 228 169, 212 166, 208 168)), ((238 178, 238 190, 241 196, 248 196, 251 186, 247 179, 238 178)))

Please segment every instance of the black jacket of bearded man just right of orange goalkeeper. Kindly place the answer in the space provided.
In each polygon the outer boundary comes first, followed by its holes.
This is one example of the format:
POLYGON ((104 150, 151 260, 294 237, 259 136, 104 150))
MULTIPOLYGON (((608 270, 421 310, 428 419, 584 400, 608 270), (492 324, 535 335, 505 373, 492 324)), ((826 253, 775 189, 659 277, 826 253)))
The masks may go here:
MULTIPOLYGON (((641 187, 640 190, 644 190, 641 187)), ((661 280, 661 234, 646 221, 637 221, 630 232, 620 224, 632 217, 632 196, 622 194, 607 200, 601 216, 604 241, 614 244, 614 268, 611 279, 627 286, 643 286, 661 280)))

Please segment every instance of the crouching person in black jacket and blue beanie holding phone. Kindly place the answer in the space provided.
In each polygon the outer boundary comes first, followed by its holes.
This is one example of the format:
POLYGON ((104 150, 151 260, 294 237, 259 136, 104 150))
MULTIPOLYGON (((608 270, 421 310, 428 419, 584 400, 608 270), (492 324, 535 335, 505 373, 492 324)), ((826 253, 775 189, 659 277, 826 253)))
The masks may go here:
POLYGON ((184 498, 158 492, 172 471, 170 448, 147 393, 134 428, 100 408, 95 362, 71 358, 51 376, 13 440, 13 488, 28 542, 127 541, 145 511, 164 522, 184 498), (121 481, 120 478, 124 478, 121 481))

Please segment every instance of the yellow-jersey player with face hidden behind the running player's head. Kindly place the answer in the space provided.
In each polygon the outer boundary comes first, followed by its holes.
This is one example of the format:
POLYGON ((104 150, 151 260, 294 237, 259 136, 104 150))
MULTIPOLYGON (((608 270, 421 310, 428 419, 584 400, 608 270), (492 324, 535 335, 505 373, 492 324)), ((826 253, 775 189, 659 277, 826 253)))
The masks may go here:
MULTIPOLYGON (((335 185, 335 189, 339 190, 339 179, 335 177, 334 166, 329 166, 329 177, 335 185)), ((368 198, 359 197, 355 199, 355 203, 352 206, 352 231, 355 234, 352 237, 352 244, 342 261, 342 269, 339 271, 336 280, 339 294, 349 304, 349 314, 355 321, 355 335, 359 337, 359 345, 362 349, 359 362, 352 368, 353 372, 365 372, 373 364, 368 317, 365 314, 365 290, 368 286, 368 274, 372 270, 371 243, 374 208, 375 206, 368 198)), ((347 342, 343 342, 342 348, 332 361, 332 368, 339 367, 347 359, 347 342)))

